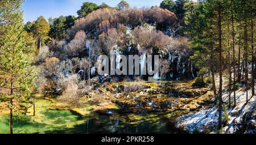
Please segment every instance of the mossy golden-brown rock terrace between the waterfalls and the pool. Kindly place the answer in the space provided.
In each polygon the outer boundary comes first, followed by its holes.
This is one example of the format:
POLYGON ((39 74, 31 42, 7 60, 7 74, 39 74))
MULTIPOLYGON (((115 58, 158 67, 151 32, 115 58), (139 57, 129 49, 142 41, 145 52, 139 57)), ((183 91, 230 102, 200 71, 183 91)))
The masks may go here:
POLYGON ((192 83, 114 83, 113 103, 121 113, 188 113, 209 103, 212 92, 191 87, 192 83), (127 91, 126 88, 129 88, 127 91), (170 90, 173 90, 169 92, 170 90))

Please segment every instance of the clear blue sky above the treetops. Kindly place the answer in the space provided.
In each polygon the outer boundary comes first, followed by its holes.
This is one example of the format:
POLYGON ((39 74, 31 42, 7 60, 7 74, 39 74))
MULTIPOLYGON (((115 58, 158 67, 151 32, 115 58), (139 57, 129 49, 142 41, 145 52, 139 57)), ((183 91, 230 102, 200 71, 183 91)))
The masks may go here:
MULTIPOLYGON (((110 6, 116 6, 121 0, 92 0, 89 2, 100 5, 102 2, 110 6)), ((151 7, 160 5, 163 0, 126 0, 131 7, 151 7)), ((26 0, 23 5, 24 23, 34 21, 38 16, 42 15, 46 19, 52 17, 57 18, 61 15, 75 15, 80 9, 83 2, 88 0, 26 0)))

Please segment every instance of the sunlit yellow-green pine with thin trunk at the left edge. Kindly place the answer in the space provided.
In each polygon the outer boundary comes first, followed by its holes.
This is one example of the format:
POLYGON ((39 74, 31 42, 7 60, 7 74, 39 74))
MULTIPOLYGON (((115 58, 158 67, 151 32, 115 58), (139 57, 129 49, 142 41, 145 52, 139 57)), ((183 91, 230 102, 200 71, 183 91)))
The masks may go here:
MULTIPOLYGON (((26 113, 34 88, 34 68, 31 66, 32 48, 23 30, 20 3, 13 3, 15 21, 9 23, 0 37, 0 101, 8 102, 10 133, 13 134, 13 113, 26 113)), ((13 18, 11 18, 13 19, 13 18)))

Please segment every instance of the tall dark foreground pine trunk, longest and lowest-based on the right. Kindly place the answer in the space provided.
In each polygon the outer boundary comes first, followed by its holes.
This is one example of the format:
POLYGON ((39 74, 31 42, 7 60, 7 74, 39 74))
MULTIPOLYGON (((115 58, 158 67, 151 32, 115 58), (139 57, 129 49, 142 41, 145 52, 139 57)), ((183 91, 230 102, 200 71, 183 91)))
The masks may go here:
POLYGON ((221 3, 218 2, 218 49, 220 59, 220 88, 218 91, 218 130, 222 127, 222 46, 221 46, 221 3))

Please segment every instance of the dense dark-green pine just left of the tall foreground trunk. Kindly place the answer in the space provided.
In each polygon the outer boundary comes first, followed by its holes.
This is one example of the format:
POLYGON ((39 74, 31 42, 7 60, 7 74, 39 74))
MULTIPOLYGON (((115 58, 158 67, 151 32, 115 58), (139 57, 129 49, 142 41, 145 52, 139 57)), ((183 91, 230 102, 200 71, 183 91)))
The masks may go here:
MULTIPOLYGON (((214 3, 199 2, 195 5, 195 9, 187 19, 187 24, 191 27, 187 29, 191 36, 192 48, 195 49, 194 55, 191 57, 195 66, 200 68, 200 75, 205 75, 208 70, 212 74, 212 90, 217 96, 215 84, 215 71, 217 66, 216 48, 218 36, 216 28, 216 11, 213 10, 214 3), (205 70, 208 69, 208 70, 205 70), (203 72, 202 72, 203 71, 203 72)), ((201 76, 203 77, 203 76, 201 76)))

